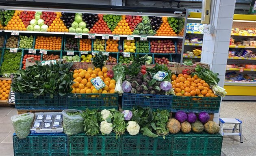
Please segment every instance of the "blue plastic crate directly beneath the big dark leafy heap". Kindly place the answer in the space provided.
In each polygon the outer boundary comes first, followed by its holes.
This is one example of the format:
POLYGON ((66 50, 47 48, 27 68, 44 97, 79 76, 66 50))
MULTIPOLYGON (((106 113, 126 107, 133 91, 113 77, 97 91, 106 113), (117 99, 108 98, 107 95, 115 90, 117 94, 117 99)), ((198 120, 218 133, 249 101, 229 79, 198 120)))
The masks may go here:
POLYGON ((34 97, 32 93, 15 93, 15 108, 23 110, 64 110, 67 109, 67 95, 50 95, 34 97))

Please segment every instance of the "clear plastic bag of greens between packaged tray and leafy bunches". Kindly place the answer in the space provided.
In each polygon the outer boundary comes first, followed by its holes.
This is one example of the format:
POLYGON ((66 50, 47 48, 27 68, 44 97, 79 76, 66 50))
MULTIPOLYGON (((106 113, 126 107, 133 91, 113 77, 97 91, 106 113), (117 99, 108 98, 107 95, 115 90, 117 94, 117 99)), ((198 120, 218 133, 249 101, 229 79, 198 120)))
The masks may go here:
POLYGON ((65 109, 62 111, 63 114, 63 131, 67 136, 78 134, 84 131, 82 124, 84 119, 81 114, 82 111, 76 109, 65 109), (69 115, 69 113, 79 112, 78 115, 69 115))

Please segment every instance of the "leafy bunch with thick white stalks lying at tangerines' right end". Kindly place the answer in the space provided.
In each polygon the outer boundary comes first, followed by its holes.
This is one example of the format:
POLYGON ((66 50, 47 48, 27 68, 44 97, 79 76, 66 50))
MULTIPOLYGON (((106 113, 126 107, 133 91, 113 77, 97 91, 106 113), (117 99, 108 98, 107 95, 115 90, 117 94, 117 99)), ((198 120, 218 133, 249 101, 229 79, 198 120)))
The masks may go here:
POLYGON ((197 65, 197 67, 195 68, 195 72, 192 75, 195 74, 197 74, 199 78, 202 78, 203 80, 205 80, 206 83, 210 85, 215 95, 219 95, 221 97, 226 96, 227 92, 225 91, 225 89, 218 85, 218 82, 220 81, 220 79, 218 78, 219 73, 214 73, 209 69, 197 65))

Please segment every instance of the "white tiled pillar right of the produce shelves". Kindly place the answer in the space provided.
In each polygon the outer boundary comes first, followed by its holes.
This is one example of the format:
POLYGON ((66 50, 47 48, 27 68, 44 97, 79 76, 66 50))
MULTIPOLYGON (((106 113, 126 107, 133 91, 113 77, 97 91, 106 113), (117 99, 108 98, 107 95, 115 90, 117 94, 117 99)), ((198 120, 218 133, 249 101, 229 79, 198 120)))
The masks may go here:
MULTIPOLYGON (((223 87, 228 60, 228 48, 234 17, 235 0, 212 0, 211 16, 214 33, 204 33, 201 62, 210 64, 210 69, 219 73, 219 86, 223 87), (216 2, 215 2, 216 1, 216 2)), ((220 112, 220 110, 219 110, 220 112)), ((219 113, 214 121, 219 123, 219 113)))

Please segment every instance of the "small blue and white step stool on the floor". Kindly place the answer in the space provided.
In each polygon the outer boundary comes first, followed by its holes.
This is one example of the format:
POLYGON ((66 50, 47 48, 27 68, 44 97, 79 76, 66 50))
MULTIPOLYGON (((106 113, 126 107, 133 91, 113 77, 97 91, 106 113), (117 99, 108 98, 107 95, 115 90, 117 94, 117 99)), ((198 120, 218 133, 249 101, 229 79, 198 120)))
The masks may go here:
POLYGON ((240 143, 243 143, 242 121, 235 118, 219 118, 219 124, 221 135, 239 135, 240 143), (234 128, 223 128, 223 124, 234 124, 234 128), (239 129, 236 128, 237 125, 239 125, 239 129), (232 133, 224 133, 223 130, 232 130, 232 133), (236 130, 238 130, 239 133, 235 133, 236 130))

